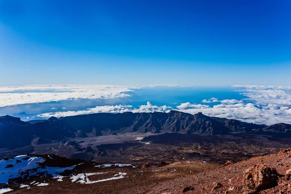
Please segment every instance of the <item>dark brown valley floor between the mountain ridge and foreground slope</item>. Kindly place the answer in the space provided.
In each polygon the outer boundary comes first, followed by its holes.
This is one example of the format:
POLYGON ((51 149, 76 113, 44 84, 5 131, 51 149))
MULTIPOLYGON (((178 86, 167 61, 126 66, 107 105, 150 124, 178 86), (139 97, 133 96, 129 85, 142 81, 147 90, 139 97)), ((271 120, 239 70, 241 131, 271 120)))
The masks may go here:
MULTIPOLYGON (((33 154, 55 154, 60 142, 32 144, 32 146, 33 154)), ((83 160, 92 158, 93 161, 100 163, 133 162, 141 165, 145 162, 204 160, 224 164, 227 160, 238 162, 253 156, 276 153, 282 147, 291 147, 289 137, 273 137, 265 134, 133 133, 66 139, 62 141, 58 155, 67 158, 80 156, 83 160), (137 141, 135 140, 137 137, 144 137, 144 139, 137 141), (74 141, 77 146, 66 144, 67 141, 74 141), (93 151, 85 153, 88 145, 93 151), (98 155, 100 150, 105 150, 107 156, 98 155)))

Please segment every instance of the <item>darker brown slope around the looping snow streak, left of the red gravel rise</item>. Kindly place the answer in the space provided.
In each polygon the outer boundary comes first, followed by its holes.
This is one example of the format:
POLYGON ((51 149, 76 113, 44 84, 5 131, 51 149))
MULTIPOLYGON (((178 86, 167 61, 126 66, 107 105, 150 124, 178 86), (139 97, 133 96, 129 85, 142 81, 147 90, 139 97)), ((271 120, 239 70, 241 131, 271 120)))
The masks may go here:
MULTIPOLYGON (((108 174, 90 176, 90 180, 111 178, 118 172, 127 173, 127 175, 126 178, 93 184, 72 183, 68 177, 63 178, 61 182, 56 179, 49 180, 48 178, 40 178, 35 180, 38 182, 44 182, 44 180, 46 180, 49 185, 41 187, 33 185, 30 189, 19 189, 18 187, 10 188, 15 189, 11 194, 137 194, 150 192, 153 186, 161 184, 163 181, 188 176, 189 173, 198 173, 202 170, 209 171, 219 166, 218 164, 205 164, 202 161, 175 162, 161 167, 158 167, 158 164, 156 164, 156 167, 149 167, 146 169, 142 169, 141 167, 98 168, 94 167, 94 165, 85 164, 78 166, 74 173, 111 172, 108 174)), ((26 184, 29 184, 29 182, 26 184)))

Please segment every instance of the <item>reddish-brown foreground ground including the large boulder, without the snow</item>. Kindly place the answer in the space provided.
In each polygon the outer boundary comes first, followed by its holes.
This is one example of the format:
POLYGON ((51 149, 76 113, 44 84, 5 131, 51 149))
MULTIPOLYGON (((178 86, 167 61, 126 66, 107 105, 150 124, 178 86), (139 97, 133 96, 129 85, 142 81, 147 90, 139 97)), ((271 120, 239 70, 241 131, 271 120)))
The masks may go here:
MULTIPOLYGON (((93 163, 79 165, 73 174, 86 173, 89 183, 39 178, 46 186, 31 185, 30 189, 11 186, 14 194, 290 194, 291 149, 277 154, 253 157, 242 162, 226 162, 225 165, 203 161, 185 161, 145 164, 127 167, 94 167, 93 163), (144 168, 143 168, 144 167, 144 168), (90 176, 90 173, 104 173, 90 176), (119 177, 108 181, 92 181, 119 177), (125 174, 126 173, 126 174, 125 174), (92 184, 91 184, 92 183, 92 184)), ((31 180, 29 181, 31 182, 31 180)), ((25 182, 24 184, 30 184, 25 182)))

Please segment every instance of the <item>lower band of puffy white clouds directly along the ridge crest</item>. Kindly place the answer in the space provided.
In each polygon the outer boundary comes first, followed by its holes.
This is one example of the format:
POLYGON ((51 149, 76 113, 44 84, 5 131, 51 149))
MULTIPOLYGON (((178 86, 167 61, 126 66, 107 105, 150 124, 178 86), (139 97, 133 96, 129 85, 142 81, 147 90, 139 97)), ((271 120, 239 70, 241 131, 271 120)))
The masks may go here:
MULTIPOLYGON (((139 108, 132 108, 130 105, 116 105, 116 106, 97 106, 81 111, 66 111, 56 113, 39 114, 40 118, 49 118, 51 116, 72 116, 78 114, 91 113, 149 113, 149 112, 167 112, 173 110, 168 106, 156 106, 147 102, 146 105, 141 105, 139 108)), ((190 102, 181 103, 177 106, 178 111, 184 113, 195 114, 202 112, 208 116, 222 117, 228 119, 237 119, 245 122, 252 122, 258 124, 272 125, 275 123, 285 122, 291 123, 291 108, 278 107, 277 105, 269 104, 267 106, 258 106, 253 103, 238 103, 238 104, 218 104, 210 107, 209 105, 191 104, 190 102)))

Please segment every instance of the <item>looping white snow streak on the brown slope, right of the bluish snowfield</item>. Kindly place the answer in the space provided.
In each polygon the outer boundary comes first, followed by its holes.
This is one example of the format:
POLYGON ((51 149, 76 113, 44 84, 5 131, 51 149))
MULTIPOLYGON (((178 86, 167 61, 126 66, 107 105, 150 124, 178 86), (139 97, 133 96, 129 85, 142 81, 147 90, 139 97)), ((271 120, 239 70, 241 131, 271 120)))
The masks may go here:
POLYGON ((97 182, 125 178, 125 176, 126 176, 126 173, 118 173, 118 174, 114 175, 112 178, 104 178, 104 179, 93 180, 93 181, 91 181, 88 178, 89 176, 92 176, 92 175, 100 175, 100 174, 106 174, 106 173, 109 173, 109 172, 78 174, 78 175, 72 176, 71 179, 72 179, 72 182, 75 182, 78 179, 80 179, 77 182, 80 182, 81 184, 92 184, 92 183, 97 183, 97 182))

